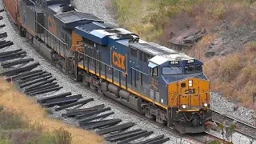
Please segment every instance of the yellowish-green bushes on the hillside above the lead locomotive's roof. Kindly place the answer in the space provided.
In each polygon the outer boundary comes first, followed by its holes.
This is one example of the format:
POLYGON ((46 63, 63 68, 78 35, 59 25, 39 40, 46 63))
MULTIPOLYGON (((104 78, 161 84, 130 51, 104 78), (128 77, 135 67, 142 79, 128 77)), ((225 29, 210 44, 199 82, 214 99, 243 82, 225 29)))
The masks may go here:
MULTIPOLYGON (((222 19, 226 14, 226 2, 238 2, 243 5, 256 5, 253 0, 112 0, 112 8, 116 12, 120 26, 133 31, 140 35, 142 39, 151 42, 161 42, 166 44, 166 39, 162 40, 162 35, 170 22, 177 14, 186 12, 193 16, 192 13, 198 14, 205 8, 205 13, 215 19, 222 19), (206 4, 208 6, 202 6, 206 4), (195 9, 201 9, 194 11, 195 9)), ((198 14, 198 20, 201 21, 202 15, 198 14)), ((180 22, 175 25, 183 25, 182 21, 187 19, 179 18, 180 22)), ((170 24, 170 25, 169 25, 170 24)))

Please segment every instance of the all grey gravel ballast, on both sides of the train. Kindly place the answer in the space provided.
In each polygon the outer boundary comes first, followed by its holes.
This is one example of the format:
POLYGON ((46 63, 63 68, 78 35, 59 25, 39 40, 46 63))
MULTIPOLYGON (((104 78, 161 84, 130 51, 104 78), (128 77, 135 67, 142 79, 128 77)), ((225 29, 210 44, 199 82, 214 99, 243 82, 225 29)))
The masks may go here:
MULTIPOLYGON (((2 7, 2 0, 0 0, 0 2, 0 6, 2 7)), ((105 2, 106 0, 74 0, 74 3, 76 4, 78 10, 93 13, 94 15, 98 16, 99 18, 102 18, 106 22, 109 22, 117 26, 114 18, 112 18, 110 14, 108 14, 108 10, 105 8, 105 2)), ((60 70, 52 66, 50 62, 46 60, 46 58, 42 57, 41 54, 34 50, 34 47, 27 42, 26 38, 21 38, 18 35, 18 32, 14 30, 16 29, 16 27, 13 24, 10 25, 9 20, 6 18, 5 12, 2 12, 0 15, 4 17, 2 21, 0 21, 0 24, 6 24, 6 27, 2 28, 2 30, 0 31, 6 31, 8 34, 8 38, 6 38, 6 40, 14 42, 14 46, 10 46, 9 49, 2 49, 0 50, 0 52, 17 49, 26 50, 26 58, 34 58, 34 62, 39 62, 41 64, 40 66, 38 66, 36 70, 46 70, 50 72, 53 75, 53 77, 57 79, 58 84, 60 86, 63 86, 62 90, 58 90, 58 92, 56 93, 41 94, 37 95, 36 98, 42 98, 54 94, 61 94, 69 91, 71 91, 72 94, 82 94, 82 96, 84 97, 83 99, 94 98, 94 102, 89 102, 88 104, 86 104, 86 106, 83 107, 96 106, 103 103, 106 105, 106 107, 110 106, 112 108, 112 111, 114 111, 115 113, 114 115, 111 115, 109 118, 121 118, 122 122, 134 122, 136 123, 136 126, 133 126, 132 129, 142 128, 145 130, 152 130, 154 131, 154 134, 152 134, 151 137, 155 136, 156 134, 165 134, 166 137, 170 138, 170 141, 168 143, 179 143, 179 136, 177 134, 174 134, 167 128, 157 126, 152 122, 147 121, 145 118, 142 118, 141 116, 138 116, 137 114, 130 112, 130 110, 127 110, 126 107, 120 106, 120 104, 118 104, 117 102, 113 102, 112 100, 105 98, 101 94, 97 94, 96 92, 90 90, 86 86, 83 86, 81 83, 74 82, 71 78, 60 72, 60 70)), ((30 62, 29 64, 31 63, 32 62, 30 62)), ((225 101, 225 98, 222 98, 222 96, 218 94, 212 94, 211 101, 211 106, 213 107, 214 110, 223 111, 233 109, 233 104, 225 101)), ((60 115, 63 113, 63 111, 65 110, 54 112, 54 114, 50 115, 50 117, 60 118, 60 115)), ((237 111, 228 112, 227 114, 229 114, 230 116, 232 116, 233 114, 234 116, 238 116, 241 117, 243 120, 246 120, 246 122, 252 122, 252 119, 248 118, 250 116, 249 113, 249 110, 240 107, 237 111), (238 114, 240 114, 240 116, 238 114)), ((77 121, 74 120, 74 118, 62 118, 62 120, 73 125, 78 124, 77 121)), ((183 138, 182 143, 197 142, 192 142, 189 139, 183 138)))

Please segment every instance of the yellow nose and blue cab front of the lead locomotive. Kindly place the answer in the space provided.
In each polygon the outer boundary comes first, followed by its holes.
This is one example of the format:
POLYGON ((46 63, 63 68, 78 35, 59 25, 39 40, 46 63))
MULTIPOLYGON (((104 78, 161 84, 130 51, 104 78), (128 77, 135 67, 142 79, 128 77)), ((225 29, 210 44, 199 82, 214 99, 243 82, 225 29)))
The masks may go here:
POLYGON ((202 62, 175 57, 166 61, 155 56, 149 62, 149 66, 153 65, 167 87, 167 125, 174 126, 181 134, 204 132, 211 112, 209 81, 202 73, 202 62))

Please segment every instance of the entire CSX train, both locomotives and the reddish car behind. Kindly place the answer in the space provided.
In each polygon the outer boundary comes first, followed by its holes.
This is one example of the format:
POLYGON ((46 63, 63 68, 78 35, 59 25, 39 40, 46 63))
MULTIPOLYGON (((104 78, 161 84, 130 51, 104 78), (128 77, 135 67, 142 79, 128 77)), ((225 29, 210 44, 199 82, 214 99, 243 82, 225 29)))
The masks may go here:
POLYGON ((70 0, 2 3, 18 34, 74 81, 181 134, 206 130, 210 82, 200 60, 76 10, 70 0))

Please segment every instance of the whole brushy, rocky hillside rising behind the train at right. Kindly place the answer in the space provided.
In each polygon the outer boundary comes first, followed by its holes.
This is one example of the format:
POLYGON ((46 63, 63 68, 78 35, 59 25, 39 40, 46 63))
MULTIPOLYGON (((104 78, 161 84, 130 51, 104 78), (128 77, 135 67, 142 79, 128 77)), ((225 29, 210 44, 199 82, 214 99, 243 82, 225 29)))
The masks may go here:
POLYGON ((182 30, 205 29, 199 42, 182 51, 205 63, 210 90, 256 108, 254 0, 112 0, 112 8, 121 26, 164 46, 182 30))

